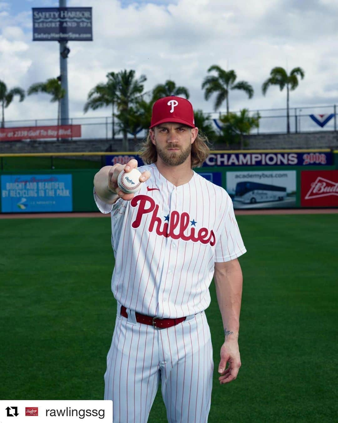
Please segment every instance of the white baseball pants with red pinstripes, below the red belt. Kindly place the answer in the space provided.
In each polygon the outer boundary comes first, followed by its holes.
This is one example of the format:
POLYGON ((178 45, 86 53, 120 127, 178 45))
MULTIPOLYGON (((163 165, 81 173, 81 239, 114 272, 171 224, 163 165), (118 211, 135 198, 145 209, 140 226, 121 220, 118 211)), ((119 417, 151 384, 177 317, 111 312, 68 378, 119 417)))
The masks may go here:
POLYGON ((210 411, 213 349, 205 313, 168 329, 128 319, 117 305, 107 355, 104 399, 113 401, 114 423, 145 423, 159 382, 170 423, 205 423, 210 411))

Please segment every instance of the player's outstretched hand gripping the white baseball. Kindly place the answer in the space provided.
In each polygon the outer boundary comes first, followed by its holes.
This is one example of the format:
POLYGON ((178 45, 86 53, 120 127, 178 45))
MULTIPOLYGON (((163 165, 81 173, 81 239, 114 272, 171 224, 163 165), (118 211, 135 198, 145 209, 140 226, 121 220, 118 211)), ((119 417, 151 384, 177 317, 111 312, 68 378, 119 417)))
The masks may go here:
MULTIPOLYGON (((123 198, 123 200, 126 201, 130 201, 135 193, 139 190, 139 187, 136 188, 136 190, 134 190, 134 192, 132 192, 133 190, 128 190, 127 188, 125 188, 126 191, 131 191, 131 192, 124 192, 120 187, 122 187, 121 185, 121 176, 128 177, 128 173, 131 173, 131 177, 128 179, 133 179, 132 176, 134 176, 134 173, 136 174, 136 172, 134 170, 136 170, 137 168, 137 160, 135 159, 131 159, 125 166, 120 165, 119 163, 117 163, 116 165, 112 166, 112 168, 109 170, 108 173, 108 188, 109 190, 112 190, 114 192, 116 192, 116 194, 123 198), (122 173, 120 175, 121 172, 124 172, 124 174, 122 173), (119 178, 120 175, 120 178, 119 178), (117 179, 120 179, 120 187, 118 186, 118 181, 117 179)), ((148 172, 147 170, 144 171, 143 173, 139 174, 139 182, 142 183, 144 181, 147 181, 147 179, 150 178, 150 172, 148 172)), ((137 185, 137 184, 136 184, 137 185)))

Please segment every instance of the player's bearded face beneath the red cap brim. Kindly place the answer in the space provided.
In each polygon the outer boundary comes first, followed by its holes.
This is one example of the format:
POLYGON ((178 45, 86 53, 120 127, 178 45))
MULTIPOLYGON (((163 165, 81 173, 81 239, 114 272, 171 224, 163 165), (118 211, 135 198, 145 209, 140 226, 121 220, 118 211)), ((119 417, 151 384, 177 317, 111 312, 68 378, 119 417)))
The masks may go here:
POLYGON ((171 122, 150 129, 151 141, 158 156, 169 166, 181 165, 190 157, 191 145, 197 133, 197 128, 171 122))

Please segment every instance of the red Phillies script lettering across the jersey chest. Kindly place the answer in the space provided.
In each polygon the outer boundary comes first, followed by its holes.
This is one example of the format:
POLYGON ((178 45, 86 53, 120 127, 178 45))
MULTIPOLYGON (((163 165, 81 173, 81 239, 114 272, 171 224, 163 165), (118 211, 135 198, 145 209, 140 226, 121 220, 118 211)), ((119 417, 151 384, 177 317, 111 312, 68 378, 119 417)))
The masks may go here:
MULTIPOLYGON (((215 233, 213 231, 209 231, 207 228, 200 228, 197 232, 197 228, 192 226, 190 228, 190 233, 185 233, 189 227, 189 223, 191 222, 189 214, 185 211, 181 214, 176 210, 172 211, 170 216, 168 215, 168 223, 163 222, 162 219, 158 217, 159 206, 155 203, 153 198, 148 197, 148 195, 136 195, 136 197, 131 200, 131 206, 136 207, 137 205, 139 208, 137 210, 136 218, 131 224, 133 228, 138 228, 141 225, 142 216, 144 214, 152 213, 148 227, 149 232, 153 232, 155 229, 155 232, 158 235, 164 236, 165 238, 202 242, 202 244, 210 244, 212 247, 216 243, 215 233), (175 230, 177 230, 178 233, 175 233, 175 230)), ((194 225, 197 223, 195 220, 193 220, 193 222, 194 225)))

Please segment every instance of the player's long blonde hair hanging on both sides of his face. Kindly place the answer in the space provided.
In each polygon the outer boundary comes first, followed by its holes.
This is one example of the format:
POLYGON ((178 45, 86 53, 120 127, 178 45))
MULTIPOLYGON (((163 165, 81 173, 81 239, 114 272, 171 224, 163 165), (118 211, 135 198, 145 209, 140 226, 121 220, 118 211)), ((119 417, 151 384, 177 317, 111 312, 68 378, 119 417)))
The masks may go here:
MULTIPOLYGON (((195 141, 191 144, 191 168, 199 168, 210 154, 210 143, 203 133, 198 133, 195 141)), ((156 146, 152 143, 150 132, 140 144, 139 155, 144 163, 149 165, 157 160, 156 146)))

